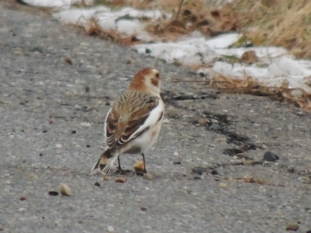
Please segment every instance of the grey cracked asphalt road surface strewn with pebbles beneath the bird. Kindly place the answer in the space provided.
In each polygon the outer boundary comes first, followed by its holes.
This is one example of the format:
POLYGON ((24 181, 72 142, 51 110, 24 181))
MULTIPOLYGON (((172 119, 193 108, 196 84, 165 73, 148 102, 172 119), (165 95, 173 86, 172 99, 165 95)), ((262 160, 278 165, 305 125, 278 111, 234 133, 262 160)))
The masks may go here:
MULTIPOLYGON (((201 77, 1 6, 0 51, 1 231, 311 230, 310 113, 174 83, 201 77), (114 170, 108 181, 90 176, 109 105, 145 66, 160 70, 166 104, 165 124, 146 154, 153 178, 129 172, 116 183, 114 170), (267 151, 279 160, 263 162, 267 151), (60 183, 73 195, 49 195, 60 183)), ((133 170, 139 159, 121 162, 133 170)))

